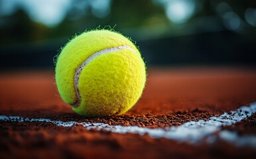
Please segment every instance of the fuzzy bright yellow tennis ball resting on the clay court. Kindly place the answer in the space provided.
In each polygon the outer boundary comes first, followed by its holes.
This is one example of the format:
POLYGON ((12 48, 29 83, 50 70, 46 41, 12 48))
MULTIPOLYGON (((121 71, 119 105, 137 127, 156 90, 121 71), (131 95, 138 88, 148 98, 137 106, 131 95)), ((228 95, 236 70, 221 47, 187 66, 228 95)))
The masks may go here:
POLYGON ((56 60, 56 85, 72 109, 88 117, 125 113, 141 97, 145 62, 135 44, 110 30, 74 37, 56 60))

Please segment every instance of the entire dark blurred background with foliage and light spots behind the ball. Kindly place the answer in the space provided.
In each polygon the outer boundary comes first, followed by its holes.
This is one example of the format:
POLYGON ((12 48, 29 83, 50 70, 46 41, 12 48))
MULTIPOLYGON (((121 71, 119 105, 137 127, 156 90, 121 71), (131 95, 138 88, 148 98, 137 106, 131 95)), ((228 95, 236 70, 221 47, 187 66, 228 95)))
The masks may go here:
POLYGON ((256 66, 256 1, 0 0, 0 71, 53 69, 74 34, 114 28, 147 66, 256 66))

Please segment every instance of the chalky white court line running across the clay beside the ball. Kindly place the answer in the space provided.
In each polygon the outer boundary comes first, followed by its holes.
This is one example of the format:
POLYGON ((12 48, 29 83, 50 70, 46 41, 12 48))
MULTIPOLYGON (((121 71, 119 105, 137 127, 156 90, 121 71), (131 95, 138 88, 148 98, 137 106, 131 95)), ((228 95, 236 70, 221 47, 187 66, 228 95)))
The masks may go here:
POLYGON ((149 134, 153 138, 169 138, 173 140, 178 140, 181 142, 190 142, 196 144, 205 140, 208 143, 213 143, 217 138, 221 138, 226 142, 235 144, 237 146, 251 146, 256 148, 256 136, 246 135, 239 136, 236 132, 231 131, 221 131, 222 126, 233 125, 238 121, 247 119, 253 113, 256 112, 256 103, 252 103, 248 107, 240 107, 236 111, 231 111, 230 113, 224 113, 220 117, 210 117, 208 121, 190 121, 184 123, 178 127, 166 127, 164 129, 149 129, 137 126, 127 126, 123 127, 121 125, 107 125, 104 123, 86 123, 86 122, 76 122, 76 121, 52 121, 50 119, 31 119, 23 118, 17 116, 6 116, 0 115, 0 121, 39 121, 39 122, 49 122, 62 127, 72 127, 74 125, 83 125, 86 129, 97 129, 97 130, 107 130, 116 133, 127 133, 132 132, 136 134, 149 134), (214 134, 214 132, 219 132, 219 135, 214 134))

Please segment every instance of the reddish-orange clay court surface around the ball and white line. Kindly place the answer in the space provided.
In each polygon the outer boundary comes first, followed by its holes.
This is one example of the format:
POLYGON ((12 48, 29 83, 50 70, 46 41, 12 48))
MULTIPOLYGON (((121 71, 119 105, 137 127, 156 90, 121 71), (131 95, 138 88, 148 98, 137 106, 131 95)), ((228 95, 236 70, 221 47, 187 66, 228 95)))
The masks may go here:
MULTIPOLYGON (((150 129, 235 111, 256 101, 256 71, 230 67, 150 68, 139 102, 125 115, 88 118, 74 113, 58 95, 54 71, 0 73, 0 115, 52 121, 105 123, 150 129)), ((191 143, 149 134, 62 127, 45 121, 0 121, 0 158, 255 158, 256 147, 232 144, 220 131, 252 136, 256 115, 214 132, 215 140, 191 143)))

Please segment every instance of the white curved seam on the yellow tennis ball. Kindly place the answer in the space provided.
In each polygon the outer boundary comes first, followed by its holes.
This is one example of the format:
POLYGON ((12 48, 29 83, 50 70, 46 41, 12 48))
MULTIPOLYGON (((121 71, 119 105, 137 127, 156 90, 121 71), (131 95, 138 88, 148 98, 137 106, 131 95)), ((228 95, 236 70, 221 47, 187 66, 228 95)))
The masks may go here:
POLYGON ((113 48, 105 48, 104 50, 100 50, 94 54, 92 54, 91 56, 89 56, 89 58, 87 58, 77 69, 74 75, 74 87, 75 87, 75 91, 76 91, 76 103, 71 104, 72 107, 78 107, 81 103, 81 95, 78 89, 78 83, 79 83, 79 78, 80 78, 80 74, 82 72, 82 70, 84 69, 85 66, 87 66, 89 64, 89 62, 91 62, 92 60, 94 60, 94 58, 97 58, 97 56, 100 56, 102 54, 107 54, 109 52, 115 52, 115 51, 119 51, 119 50, 123 50, 123 49, 128 49, 131 50, 135 53, 136 50, 134 48, 131 48, 131 46, 127 46, 127 45, 121 45, 121 46, 117 46, 117 47, 113 47, 113 48))

